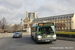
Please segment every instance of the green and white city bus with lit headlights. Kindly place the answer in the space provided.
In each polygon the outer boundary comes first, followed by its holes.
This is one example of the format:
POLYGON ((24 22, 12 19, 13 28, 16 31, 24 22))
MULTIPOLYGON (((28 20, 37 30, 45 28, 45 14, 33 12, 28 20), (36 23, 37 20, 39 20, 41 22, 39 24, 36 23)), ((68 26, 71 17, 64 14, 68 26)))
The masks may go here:
POLYGON ((37 43, 56 41, 55 23, 34 23, 31 26, 31 38, 37 43))

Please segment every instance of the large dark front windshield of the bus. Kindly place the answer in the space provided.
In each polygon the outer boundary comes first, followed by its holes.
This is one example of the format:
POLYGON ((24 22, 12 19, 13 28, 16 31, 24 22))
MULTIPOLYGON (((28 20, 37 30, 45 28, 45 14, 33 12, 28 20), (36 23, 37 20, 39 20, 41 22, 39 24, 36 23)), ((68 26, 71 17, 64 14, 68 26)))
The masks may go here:
POLYGON ((54 32, 55 32, 54 26, 39 27, 39 34, 54 34, 54 32))

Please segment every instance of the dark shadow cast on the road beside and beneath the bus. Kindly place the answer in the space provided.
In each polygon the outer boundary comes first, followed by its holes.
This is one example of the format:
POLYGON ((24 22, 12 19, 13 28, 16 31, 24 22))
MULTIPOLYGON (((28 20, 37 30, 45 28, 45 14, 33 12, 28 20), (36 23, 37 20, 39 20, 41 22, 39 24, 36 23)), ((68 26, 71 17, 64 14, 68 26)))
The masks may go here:
MULTIPOLYGON (((34 45, 36 45, 37 43, 34 41, 34 40, 32 40, 31 39, 31 37, 30 36, 23 36, 22 38, 14 38, 14 39, 16 39, 15 41, 17 42, 17 43, 23 43, 23 44, 34 44, 34 45)), ((40 44, 54 44, 54 43, 40 43, 40 44)))

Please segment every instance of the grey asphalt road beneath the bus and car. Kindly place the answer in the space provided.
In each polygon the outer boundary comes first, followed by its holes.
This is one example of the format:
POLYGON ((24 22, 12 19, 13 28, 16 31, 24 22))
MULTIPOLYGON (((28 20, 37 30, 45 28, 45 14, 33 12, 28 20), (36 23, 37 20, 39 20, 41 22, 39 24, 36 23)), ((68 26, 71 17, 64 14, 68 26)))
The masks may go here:
POLYGON ((30 36, 0 39, 0 50, 75 50, 74 41, 57 40, 53 43, 37 44, 30 36))

